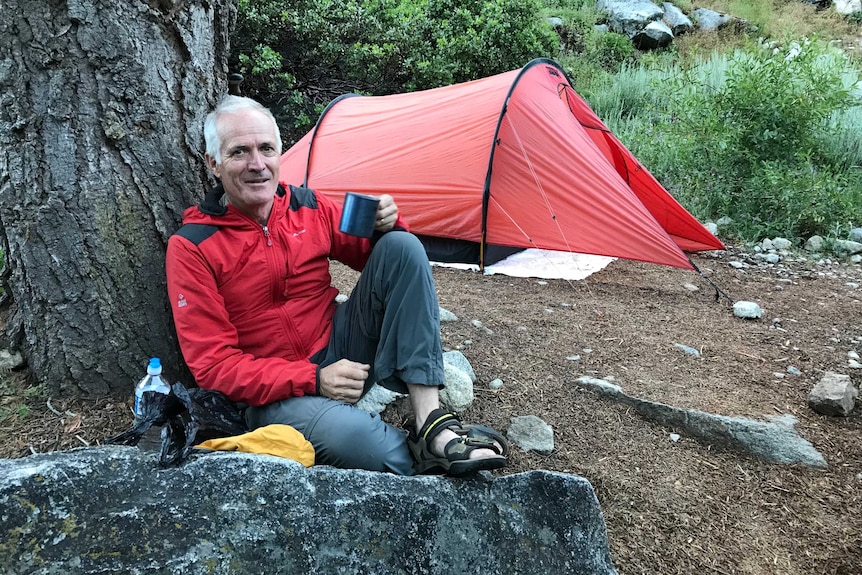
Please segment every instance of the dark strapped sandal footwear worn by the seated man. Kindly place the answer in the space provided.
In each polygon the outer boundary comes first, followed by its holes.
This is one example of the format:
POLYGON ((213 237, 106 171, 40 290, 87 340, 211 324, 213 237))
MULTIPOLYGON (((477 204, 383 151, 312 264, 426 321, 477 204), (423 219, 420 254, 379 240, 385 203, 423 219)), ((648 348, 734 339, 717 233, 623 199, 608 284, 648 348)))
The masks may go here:
POLYGON ((415 460, 414 471, 419 473, 445 473, 462 477, 482 470, 499 469, 506 465, 509 443, 500 433, 485 425, 463 424, 457 417, 442 409, 428 416, 422 429, 410 426, 407 445, 415 460), (454 431, 458 437, 443 448, 444 455, 431 451, 431 442, 444 429, 454 431), (470 459, 474 449, 490 449, 497 455, 470 459))

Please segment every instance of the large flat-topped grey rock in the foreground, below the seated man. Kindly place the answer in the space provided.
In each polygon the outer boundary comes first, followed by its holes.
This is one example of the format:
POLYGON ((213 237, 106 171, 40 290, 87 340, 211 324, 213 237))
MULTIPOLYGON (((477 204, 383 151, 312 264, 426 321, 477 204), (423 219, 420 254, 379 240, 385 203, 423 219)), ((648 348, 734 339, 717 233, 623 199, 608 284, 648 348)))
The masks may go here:
POLYGON ((100 447, 0 460, 0 573, 613 574, 592 486, 305 469, 242 453, 159 469, 100 447))

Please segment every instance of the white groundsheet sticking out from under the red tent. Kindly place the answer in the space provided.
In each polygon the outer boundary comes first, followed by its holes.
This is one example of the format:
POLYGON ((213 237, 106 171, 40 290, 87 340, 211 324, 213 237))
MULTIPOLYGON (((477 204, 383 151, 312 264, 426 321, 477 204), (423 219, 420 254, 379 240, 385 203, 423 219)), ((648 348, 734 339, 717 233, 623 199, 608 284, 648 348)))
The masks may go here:
MULTIPOLYGON (((485 266, 485 275, 503 274, 518 278, 582 280, 604 269, 615 259, 607 256, 529 249, 512 254, 494 265, 485 266)), ((473 264, 431 262, 431 265, 479 270, 479 266, 473 264)))

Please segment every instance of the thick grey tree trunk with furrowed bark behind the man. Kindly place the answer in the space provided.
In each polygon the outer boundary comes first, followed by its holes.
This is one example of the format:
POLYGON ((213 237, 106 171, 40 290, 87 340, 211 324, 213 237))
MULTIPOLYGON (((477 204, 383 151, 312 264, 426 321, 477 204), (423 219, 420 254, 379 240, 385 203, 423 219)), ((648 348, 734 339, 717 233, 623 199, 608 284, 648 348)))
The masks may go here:
POLYGON ((185 376, 168 237, 202 197, 230 0, 0 0, 6 334, 52 394, 185 376))

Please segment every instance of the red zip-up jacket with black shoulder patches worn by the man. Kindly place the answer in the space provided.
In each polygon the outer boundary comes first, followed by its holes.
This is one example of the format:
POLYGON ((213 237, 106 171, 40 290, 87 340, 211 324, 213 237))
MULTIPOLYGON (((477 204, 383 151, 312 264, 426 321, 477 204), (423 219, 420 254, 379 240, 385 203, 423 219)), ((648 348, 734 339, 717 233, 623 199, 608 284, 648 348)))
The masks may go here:
MULTIPOLYGON (((314 394, 309 357, 329 341, 335 296, 329 259, 361 270, 371 242, 338 231, 341 208, 307 188, 279 186, 266 226, 221 190, 183 213, 166 271, 180 348, 197 384, 264 405, 314 394)), ((400 216, 396 226, 406 228, 400 216)))

